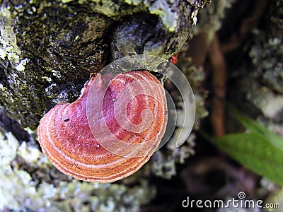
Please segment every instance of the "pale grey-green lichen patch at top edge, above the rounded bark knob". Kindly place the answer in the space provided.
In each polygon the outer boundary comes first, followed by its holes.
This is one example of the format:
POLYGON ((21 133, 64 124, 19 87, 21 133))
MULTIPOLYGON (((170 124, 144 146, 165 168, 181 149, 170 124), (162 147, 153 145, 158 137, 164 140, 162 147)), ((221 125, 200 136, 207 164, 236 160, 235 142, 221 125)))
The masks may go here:
POLYGON ((171 10, 166 0, 155 1, 154 4, 149 6, 149 12, 159 16, 170 32, 173 32, 177 27, 178 13, 171 10))

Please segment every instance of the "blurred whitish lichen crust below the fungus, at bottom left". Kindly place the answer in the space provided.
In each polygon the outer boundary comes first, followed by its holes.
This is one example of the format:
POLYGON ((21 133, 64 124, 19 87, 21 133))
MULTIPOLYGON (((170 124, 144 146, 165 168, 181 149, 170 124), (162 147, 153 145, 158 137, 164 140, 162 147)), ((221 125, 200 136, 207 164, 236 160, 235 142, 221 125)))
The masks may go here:
POLYGON ((18 169, 21 161, 28 170, 45 170, 41 175, 50 175, 50 162, 45 159, 33 139, 20 146, 13 134, 0 130, 0 211, 140 211, 141 204, 148 204, 156 194, 147 181, 127 187, 73 179, 54 186, 18 169))

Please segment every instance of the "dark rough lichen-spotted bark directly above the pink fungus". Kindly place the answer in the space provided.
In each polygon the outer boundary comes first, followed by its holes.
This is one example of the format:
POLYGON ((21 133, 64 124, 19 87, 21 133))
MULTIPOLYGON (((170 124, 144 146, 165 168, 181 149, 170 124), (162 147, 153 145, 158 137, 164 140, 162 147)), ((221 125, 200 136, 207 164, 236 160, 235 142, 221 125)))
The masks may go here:
POLYGON ((36 129, 89 73, 128 54, 169 59, 205 1, 0 1, 0 112, 36 129))

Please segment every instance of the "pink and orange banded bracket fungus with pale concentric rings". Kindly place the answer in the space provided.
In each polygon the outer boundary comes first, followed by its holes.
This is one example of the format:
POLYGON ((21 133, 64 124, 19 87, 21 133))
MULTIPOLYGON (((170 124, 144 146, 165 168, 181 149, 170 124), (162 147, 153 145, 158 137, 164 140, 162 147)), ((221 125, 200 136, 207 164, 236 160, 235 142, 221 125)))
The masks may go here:
POLYGON ((53 107, 37 129, 52 164, 88 182, 115 182, 139 170, 167 124, 165 91, 155 76, 127 71, 106 78, 92 76, 78 100, 53 107))

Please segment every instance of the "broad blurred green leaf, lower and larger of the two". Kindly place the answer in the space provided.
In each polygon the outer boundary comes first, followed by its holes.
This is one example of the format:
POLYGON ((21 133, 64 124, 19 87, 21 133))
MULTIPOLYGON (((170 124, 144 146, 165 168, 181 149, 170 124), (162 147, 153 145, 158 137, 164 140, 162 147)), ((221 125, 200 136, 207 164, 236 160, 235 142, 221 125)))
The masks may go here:
POLYGON ((283 186, 283 152, 264 136, 238 133, 210 140, 243 166, 283 186))

